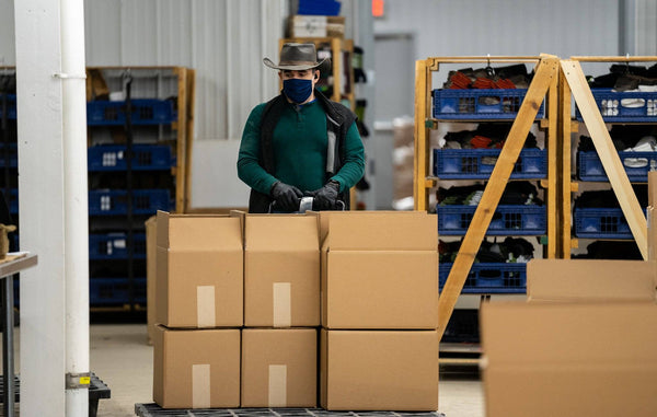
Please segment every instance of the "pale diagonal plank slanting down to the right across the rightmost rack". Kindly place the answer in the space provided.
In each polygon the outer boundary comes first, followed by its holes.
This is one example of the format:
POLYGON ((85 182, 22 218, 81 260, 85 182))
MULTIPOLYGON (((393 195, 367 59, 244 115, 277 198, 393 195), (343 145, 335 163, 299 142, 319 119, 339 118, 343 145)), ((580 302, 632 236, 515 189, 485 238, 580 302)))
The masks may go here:
POLYGON ((621 163, 602 115, 596 104, 593 94, 588 86, 581 66, 578 61, 562 60, 561 62, 565 78, 573 91, 575 102, 579 107, 584 123, 590 134, 596 151, 602 161, 604 172, 609 177, 611 187, 619 199, 623 215, 627 220, 630 230, 644 259, 648 258, 648 236, 646 218, 634 195, 627 173, 621 163))

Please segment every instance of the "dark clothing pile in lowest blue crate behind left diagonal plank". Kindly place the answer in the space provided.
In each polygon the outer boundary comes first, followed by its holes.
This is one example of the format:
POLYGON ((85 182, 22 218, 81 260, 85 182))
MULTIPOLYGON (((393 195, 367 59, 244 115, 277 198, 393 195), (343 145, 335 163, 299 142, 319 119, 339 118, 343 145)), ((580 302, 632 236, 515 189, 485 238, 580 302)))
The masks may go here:
MULTIPOLYGON (((457 258, 462 241, 438 241, 440 263, 452 263, 457 258)), ((502 242, 484 240, 474 258, 475 263, 528 263, 533 258, 534 246, 522 238, 506 238, 502 242)))

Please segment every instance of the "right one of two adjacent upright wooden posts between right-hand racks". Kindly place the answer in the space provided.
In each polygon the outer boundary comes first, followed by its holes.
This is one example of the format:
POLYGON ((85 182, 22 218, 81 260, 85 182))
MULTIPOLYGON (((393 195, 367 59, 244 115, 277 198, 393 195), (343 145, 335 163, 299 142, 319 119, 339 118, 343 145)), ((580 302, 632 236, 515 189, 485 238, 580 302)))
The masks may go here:
MULTIPOLYGON (((563 70, 560 67, 558 71, 558 96, 560 96, 560 126, 558 126, 558 150, 557 155, 560 155, 560 196, 558 196, 558 207, 561 208, 560 212, 560 231, 558 239, 561 242, 561 247, 558 251, 558 257, 563 259, 570 258, 570 252, 573 248, 570 241, 570 210, 572 210, 572 200, 570 193, 573 192, 572 185, 574 183, 570 182, 570 132, 573 131, 573 125, 575 125, 575 129, 578 128, 579 124, 573 124, 570 118, 570 88, 566 82, 566 78, 563 73, 563 70)), ((576 183, 575 183, 576 184, 576 183)))

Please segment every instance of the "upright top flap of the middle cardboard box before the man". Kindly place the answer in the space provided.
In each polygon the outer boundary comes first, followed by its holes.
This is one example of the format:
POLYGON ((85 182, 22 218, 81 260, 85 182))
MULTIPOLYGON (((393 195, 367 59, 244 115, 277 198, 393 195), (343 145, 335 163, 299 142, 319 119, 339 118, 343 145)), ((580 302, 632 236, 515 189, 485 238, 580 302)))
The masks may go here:
POLYGON ((300 215, 247 215, 246 251, 319 251, 318 219, 300 215))

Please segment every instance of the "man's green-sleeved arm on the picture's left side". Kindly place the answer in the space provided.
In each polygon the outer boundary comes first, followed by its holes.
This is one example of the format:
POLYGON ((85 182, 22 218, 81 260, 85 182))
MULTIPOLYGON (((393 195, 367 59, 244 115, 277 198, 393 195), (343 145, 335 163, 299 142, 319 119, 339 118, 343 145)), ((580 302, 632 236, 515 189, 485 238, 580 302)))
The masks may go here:
POLYGON ((238 176, 256 192, 269 195, 276 177, 265 171, 260 164, 261 132, 260 125, 265 104, 257 105, 244 125, 240 153, 238 155, 238 176))

